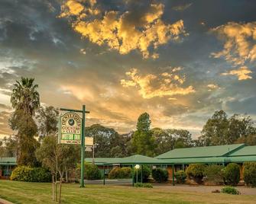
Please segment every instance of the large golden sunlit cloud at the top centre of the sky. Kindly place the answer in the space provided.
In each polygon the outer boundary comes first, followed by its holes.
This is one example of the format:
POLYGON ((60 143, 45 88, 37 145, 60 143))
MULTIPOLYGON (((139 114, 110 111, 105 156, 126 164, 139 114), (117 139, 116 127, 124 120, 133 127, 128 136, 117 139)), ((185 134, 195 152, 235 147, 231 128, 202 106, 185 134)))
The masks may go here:
POLYGON ((106 44, 120 54, 138 49, 144 58, 157 59, 158 54, 151 53, 150 49, 155 50, 170 40, 180 40, 187 34, 182 20, 165 24, 161 20, 162 14, 164 5, 160 3, 149 5, 140 14, 134 11, 103 13, 97 8, 96 1, 87 1, 83 5, 70 0, 63 4, 60 18, 69 18, 73 30, 99 46, 106 44))

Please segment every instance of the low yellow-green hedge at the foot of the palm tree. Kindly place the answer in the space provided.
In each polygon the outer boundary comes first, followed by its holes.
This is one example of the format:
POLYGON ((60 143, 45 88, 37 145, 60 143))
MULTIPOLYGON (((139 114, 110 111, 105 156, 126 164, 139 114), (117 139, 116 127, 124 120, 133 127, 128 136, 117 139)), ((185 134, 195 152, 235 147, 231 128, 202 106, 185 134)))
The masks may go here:
POLYGON ((50 182, 51 175, 43 167, 19 166, 12 171, 10 179, 25 182, 50 182))

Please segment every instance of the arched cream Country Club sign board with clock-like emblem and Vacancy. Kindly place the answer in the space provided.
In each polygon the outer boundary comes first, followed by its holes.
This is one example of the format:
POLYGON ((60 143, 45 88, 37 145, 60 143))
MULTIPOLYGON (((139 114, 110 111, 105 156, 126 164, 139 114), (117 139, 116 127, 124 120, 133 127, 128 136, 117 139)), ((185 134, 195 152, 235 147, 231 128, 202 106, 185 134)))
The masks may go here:
POLYGON ((82 119, 79 114, 73 112, 60 116, 60 144, 81 144, 82 119))

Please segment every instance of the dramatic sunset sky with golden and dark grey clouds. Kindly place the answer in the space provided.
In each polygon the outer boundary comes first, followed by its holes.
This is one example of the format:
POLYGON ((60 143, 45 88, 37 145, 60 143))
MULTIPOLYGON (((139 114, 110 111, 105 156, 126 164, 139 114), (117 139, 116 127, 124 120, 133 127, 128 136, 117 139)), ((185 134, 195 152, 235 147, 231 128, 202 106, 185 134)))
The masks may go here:
POLYGON ((1 0, 0 137, 15 80, 35 78, 44 106, 90 113, 120 133, 199 136, 215 110, 256 120, 256 2, 1 0))

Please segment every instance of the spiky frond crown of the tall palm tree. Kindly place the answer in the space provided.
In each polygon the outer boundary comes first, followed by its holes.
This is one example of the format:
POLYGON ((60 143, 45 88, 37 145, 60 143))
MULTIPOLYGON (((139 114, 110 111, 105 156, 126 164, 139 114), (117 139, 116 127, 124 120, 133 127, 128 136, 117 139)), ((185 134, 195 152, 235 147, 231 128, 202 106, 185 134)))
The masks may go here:
POLYGON ((35 110, 40 107, 40 97, 37 92, 38 85, 34 84, 34 78, 23 78, 16 81, 11 94, 11 104, 15 110, 23 110, 34 116, 35 110))

